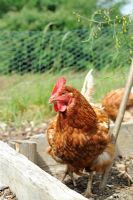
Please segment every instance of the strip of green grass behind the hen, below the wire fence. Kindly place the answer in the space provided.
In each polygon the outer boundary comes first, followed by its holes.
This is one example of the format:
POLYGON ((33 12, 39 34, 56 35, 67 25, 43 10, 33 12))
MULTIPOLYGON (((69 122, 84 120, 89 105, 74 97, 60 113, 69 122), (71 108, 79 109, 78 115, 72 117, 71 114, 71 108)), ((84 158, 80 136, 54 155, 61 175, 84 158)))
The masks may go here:
MULTIPOLYGON (((47 121, 55 113, 48 99, 59 76, 67 79, 67 84, 81 89, 87 71, 64 71, 58 74, 25 74, 0 77, 0 120, 19 125, 23 121, 40 123, 47 121)), ((114 88, 123 87, 127 78, 127 68, 94 71, 95 102, 114 88)))

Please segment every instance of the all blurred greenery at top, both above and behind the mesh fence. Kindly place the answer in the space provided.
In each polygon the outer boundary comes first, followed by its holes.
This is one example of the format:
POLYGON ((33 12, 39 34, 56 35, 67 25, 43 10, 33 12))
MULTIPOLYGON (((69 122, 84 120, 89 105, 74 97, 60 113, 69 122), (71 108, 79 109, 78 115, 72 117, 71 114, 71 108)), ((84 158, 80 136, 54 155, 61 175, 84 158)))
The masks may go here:
POLYGON ((97 0, 1 0, 0 73, 128 66, 130 16, 97 0))

